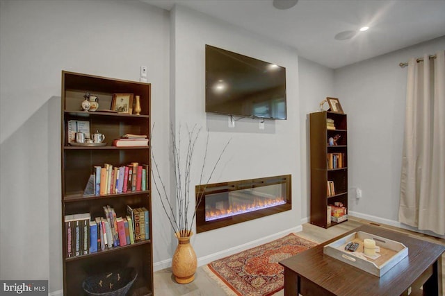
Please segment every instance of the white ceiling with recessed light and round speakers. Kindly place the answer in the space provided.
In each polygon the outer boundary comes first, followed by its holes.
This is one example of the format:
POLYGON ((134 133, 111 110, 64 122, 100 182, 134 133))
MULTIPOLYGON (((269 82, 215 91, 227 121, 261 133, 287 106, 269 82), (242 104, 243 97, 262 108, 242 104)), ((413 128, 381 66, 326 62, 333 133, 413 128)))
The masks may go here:
POLYGON ((445 35, 445 0, 299 0, 289 10, 274 8, 273 0, 140 1, 204 12, 332 69, 445 35), (359 32, 362 26, 369 30, 359 32), (345 31, 353 37, 335 39, 345 31))

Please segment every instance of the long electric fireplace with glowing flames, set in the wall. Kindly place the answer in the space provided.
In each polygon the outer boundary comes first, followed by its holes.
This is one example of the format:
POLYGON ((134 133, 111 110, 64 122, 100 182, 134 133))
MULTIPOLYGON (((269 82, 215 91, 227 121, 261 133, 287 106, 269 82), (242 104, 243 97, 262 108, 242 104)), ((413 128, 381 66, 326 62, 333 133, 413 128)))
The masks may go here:
POLYGON ((196 232, 292 209, 291 175, 195 186, 196 232))

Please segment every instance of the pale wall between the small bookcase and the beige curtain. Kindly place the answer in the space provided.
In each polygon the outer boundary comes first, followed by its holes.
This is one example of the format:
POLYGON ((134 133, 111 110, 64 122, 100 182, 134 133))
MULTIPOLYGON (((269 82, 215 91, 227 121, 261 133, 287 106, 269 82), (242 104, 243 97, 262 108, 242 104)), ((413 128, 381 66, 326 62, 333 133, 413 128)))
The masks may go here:
MULTIPOLYGON (((348 114, 349 187, 362 189, 355 216, 397 225, 407 68, 399 62, 445 49, 445 37, 334 71, 334 89, 348 114)), ((353 190, 350 190, 353 193, 353 190)))

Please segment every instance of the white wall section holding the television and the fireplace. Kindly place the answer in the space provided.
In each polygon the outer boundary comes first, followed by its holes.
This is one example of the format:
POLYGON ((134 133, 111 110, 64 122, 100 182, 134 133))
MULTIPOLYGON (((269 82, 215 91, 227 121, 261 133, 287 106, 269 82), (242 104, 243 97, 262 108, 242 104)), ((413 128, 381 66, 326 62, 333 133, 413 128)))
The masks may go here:
MULTIPOLYGON (((172 71, 175 74, 176 126, 182 125, 184 128, 186 124, 191 126, 196 123, 204 129, 209 129, 209 163, 218 157, 228 139, 232 139, 223 156, 224 165, 218 167, 211 182, 292 175, 291 211, 197 234, 192 243, 197 256, 202 258, 286 232, 300 225, 302 171, 298 55, 295 50, 282 44, 270 42, 199 12, 182 6, 176 6, 174 9, 172 17, 176 38, 175 46, 172 46, 175 63, 175 69, 172 71), (286 67, 288 119, 266 121, 266 129, 259 130, 259 120, 241 119, 236 121, 235 128, 228 128, 227 116, 206 115, 205 44, 286 67)), ((202 139, 204 141, 204 137, 202 139)), ((195 159, 202 159, 202 147, 195 152, 195 159)), ((192 186, 199 184, 199 169, 198 166, 192 177, 192 186)))

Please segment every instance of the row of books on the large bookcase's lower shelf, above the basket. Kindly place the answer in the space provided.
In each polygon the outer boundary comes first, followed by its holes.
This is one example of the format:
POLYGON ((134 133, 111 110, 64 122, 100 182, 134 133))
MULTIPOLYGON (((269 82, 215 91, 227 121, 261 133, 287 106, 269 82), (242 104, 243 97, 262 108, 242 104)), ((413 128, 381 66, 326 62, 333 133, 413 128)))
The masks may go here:
POLYGON ((104 216, 90 213, 65 216, 66 258, 92 254, 149 239, 149 213, 145 207, 127 206, 127 216, 117 217, 104 207, 104 216))

